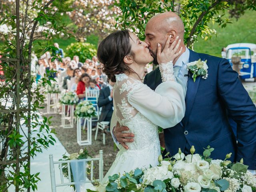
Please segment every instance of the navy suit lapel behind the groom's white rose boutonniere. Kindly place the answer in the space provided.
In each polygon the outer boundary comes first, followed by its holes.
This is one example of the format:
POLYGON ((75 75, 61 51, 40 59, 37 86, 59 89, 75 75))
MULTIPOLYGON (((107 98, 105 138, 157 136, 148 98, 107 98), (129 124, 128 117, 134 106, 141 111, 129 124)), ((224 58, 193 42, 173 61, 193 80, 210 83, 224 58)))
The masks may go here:
MULTIPOLYGON (((198 53, 196 53, 192 50, 189 50, 189 51, 190 51, 189 62, 193 62, 193 61, 200 59, 198 53)), ((190 76, 192 76, 192 74, 190 74, 190 76)), ((190 77, 188 79, 187 93, 186 93, 186 112, 185 112, 185 116, 182 120, 184 127, 188 123, 201 78, 202 78, 201 76, 197 77, 196 82, 193 81, 192 77, 190 77)))

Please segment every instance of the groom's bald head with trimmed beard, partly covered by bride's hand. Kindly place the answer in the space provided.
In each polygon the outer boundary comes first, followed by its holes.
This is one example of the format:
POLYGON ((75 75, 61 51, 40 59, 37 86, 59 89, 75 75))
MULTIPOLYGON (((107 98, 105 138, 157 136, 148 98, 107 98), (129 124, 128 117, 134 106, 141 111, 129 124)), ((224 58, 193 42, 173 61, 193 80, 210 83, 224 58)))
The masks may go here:
MULTIPOLYGON (((164 12, 150 18, 146 24, 145 34, 145 41, 148 43, 154 57, 156 57, 157 44, 160 43, 163 49, 169 35, 172 35, 171 43, 174 42, 176 36, 179 36, 182 40, 180 47, 184 46, 184 24, 174 12, 164 12)), ((184 51, 185 48, 182 52, 184 51)))

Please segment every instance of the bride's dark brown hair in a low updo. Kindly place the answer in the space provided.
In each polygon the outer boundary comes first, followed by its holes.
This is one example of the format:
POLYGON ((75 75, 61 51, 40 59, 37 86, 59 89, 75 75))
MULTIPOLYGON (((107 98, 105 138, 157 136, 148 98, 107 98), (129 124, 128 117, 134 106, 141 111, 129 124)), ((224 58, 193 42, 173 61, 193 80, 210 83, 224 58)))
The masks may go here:
POLYGON ((116 82, 115 74, 136 73, 124 63, 124 57, 127 55, 133 56, 128 30, 115 31, 100 43, 97 57, 103 64, 103 72, 112 82, 116 82))

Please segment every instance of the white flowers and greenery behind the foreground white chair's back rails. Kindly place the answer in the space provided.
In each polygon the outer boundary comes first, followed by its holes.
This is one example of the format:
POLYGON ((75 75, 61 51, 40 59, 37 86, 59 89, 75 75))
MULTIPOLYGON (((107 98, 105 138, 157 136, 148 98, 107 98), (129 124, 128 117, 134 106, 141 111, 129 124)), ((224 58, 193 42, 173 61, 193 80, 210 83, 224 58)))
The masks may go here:
MULTIPOLYGON (((80 151, 77 153, 70 154, 69 156, 67 156, 65 153, 62 156, 62 159, 60 159, 59 161, 86 159, 86 158, 92 158, 92 157, 89 155, 88 150, 86 148, 84 148, 84 149, 80 149, 80 151)), ((90 174, 91 162, 87 162, 86 168, 87 168, 87 170, 86 170, 87 174, 90 174)), ((62 172, 63 172, 64 177, 68 178, 68 164, 62 164, 62 172)), ((70 172, 70 176, 71 176, 71 182, 74 182, 72 171, 70 172)), ((74 187, 74 185, 72 185, 72 187, 74 187)))

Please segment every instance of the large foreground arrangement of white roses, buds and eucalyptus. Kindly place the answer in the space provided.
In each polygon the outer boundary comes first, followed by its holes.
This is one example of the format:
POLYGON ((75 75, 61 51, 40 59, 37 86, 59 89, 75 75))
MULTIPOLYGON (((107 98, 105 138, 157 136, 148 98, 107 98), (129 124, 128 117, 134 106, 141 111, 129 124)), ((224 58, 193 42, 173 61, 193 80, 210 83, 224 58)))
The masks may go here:
MULTIPOLYGON (((159 165, 148 169, 136 169, 123 175, 109 176, 106 191, 114 192, 256 192, 256 178, 247 171, 248 166, 240 162, 210 158, 214 148, 208 146, 203 156, 185 156, 179 152, 163 160, 159 165), (171 160, 174 158, 175 160, 171 160)), ((166 154, 168 156, 168 154, 166 154)))

